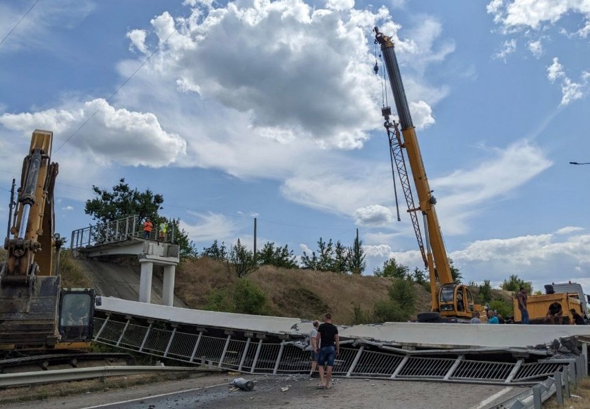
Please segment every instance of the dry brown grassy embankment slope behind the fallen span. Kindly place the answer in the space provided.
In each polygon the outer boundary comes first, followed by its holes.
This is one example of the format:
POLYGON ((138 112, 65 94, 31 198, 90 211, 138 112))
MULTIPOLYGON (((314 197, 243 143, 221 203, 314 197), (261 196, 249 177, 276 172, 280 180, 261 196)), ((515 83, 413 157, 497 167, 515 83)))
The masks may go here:
MULTIPOLYGON (((363 312, 373 310, 376 301, 388 299, 390 280, 373 276, 353 276, 311 270, 277 269, 263 266, 248 278, 270 301, 270 313, 278 317, 319 319, 331 312, 335 322, 354 321, 355 306, 363 312)), ((175 293, 190 308, 203 308, 214 288, 224 288, 237 278, 222 262, 200 258, 185 261, 176 270, 175 293)), ((429 294, 415 285, 416 312, 429 310, 429 294)))

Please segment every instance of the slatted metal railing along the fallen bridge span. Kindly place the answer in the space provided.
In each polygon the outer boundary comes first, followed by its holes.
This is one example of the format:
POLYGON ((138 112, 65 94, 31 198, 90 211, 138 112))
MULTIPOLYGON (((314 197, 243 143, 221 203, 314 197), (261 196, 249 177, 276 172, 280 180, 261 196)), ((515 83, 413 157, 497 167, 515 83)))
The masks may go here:
MULTIPOLYGON (((299 342, 257 338, 232 338, 181 332, 177 327, 162 329, 155 321, 148 326, 113 317, 95 318, 94 340, 106 345, 189 363, 209 363, 215 367, 255 374, 309 373, 309 351, 299 342)), ((352 343, 353 341, 349 341, 352 343)), ((553 375, 568 362, 491 362, 468 360, 464 354, 452 358, 415 356, 379 348, 375 343, 356 340, 358 347, 341 342, 333 373, 343 377, 379 377, 445 382, 532 384, 553 375)), ((412 351, 416 352, 416 351, 412 351)), ((452 354, 452 352, 449 352, 452 354)))

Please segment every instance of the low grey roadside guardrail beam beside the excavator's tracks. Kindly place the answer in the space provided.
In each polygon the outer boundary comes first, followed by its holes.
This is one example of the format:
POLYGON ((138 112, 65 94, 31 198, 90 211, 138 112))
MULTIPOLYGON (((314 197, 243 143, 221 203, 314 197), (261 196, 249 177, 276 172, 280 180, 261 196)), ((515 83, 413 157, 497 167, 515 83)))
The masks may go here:
MULTIPOLYGON (((2 373, 0 374, 0 387, 6 388, 10 386, 51 384, 54 382, 86 380, 95 377, 140 375, 142 373, 174 373, 201 371, 215 371, 215 369, 201 367, 123 366, 55 369, 51 371, 34 371, 23 373, 2 373)), ((217 369, 217 371, 220 371, 220 369, 217 369)))

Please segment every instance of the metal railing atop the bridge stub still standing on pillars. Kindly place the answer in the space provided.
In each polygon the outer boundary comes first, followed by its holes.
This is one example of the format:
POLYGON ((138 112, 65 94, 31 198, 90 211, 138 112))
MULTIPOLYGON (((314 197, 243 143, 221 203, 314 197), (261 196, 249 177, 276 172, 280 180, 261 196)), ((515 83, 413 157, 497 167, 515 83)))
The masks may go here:
POLYGON ((128 240, 131 237, 160 240, 167 243, 174 242, 176 226, 167 225, 165 231, 161 231, 158 225, 154 225, 151 232, 143 231, 143 223, 137 215, 123 217, 106 223, 97 223, 74 230, 72 232, 70 249, 81 249, 95 245, 115 243, 128 240))

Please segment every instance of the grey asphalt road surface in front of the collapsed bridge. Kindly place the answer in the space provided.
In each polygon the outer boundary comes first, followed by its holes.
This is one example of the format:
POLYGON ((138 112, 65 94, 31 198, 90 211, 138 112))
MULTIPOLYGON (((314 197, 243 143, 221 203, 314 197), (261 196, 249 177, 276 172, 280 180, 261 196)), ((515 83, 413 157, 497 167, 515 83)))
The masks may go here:
MULTIPOLYGON (((242 375, 240 375, 242 376, 242 375)), ((233 390, 233 375, 215 374, 189 380, 27 401, 6 409, 189 409, 189 408, 487 408, 521 392, 515 386, 449 384, 388 380, 336 379, 330 390, 303 375, 246 377, 254 391, 233 390)))

